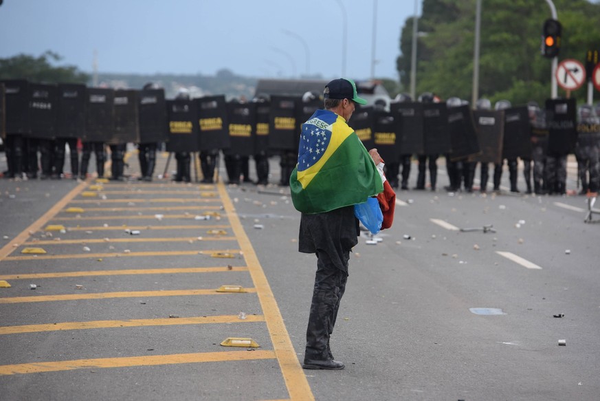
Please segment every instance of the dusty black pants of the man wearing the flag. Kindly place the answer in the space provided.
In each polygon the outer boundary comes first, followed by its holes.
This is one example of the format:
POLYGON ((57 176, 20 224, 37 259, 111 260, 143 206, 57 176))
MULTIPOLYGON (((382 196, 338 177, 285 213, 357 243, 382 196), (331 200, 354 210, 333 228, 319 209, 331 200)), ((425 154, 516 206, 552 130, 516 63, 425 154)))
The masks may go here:
MULTIPOLYGON (((350 251, 344 252, 344 264, 348 266, 350 251)), ((333 333, 340 301, 346 290, 348 274, 331 262, 325 252, 317 252, 317 273, 311 303, 311 314, 307 327, 307 348, 304 359, 333 359, 329 348, 329 338, 333 333)))

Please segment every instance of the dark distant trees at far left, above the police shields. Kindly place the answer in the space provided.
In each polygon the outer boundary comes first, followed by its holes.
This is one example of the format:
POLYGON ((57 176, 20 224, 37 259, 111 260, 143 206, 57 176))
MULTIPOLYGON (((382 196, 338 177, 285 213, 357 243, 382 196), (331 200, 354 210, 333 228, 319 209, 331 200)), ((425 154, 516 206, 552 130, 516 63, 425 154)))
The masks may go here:
POLYGON ((62 57, 50 51, 38 57, 19 54, 0 58, 0 79, 26 79, 36 83, 89 82, 90 76, 72 65, 53 65, 61 60, 62 57))

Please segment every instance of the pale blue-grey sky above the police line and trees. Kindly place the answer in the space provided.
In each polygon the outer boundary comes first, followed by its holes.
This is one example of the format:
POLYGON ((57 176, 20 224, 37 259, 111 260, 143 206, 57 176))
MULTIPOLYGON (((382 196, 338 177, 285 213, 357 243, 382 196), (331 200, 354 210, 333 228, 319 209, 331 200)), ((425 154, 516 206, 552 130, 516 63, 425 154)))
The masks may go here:
POLYGON ((52 50, 90 73, 96 51, 105 73, 337 78, 345 67, 357 80, 371 77, 375 59, 375 76, 396 79, 413 14, 413 0, 4 0, 0 58, 52 50))

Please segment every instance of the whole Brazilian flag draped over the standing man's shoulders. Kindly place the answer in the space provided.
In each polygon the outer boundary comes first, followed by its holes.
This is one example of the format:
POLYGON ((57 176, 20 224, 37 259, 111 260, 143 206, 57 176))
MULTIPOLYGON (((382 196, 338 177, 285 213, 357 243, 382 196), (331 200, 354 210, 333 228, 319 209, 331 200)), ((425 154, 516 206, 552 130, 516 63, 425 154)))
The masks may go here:
POLYGON ((377 167, 346 120, 317 110, 302 124, 298 164, 289 179, 296 210, 324 213, 384 191, 377 167))

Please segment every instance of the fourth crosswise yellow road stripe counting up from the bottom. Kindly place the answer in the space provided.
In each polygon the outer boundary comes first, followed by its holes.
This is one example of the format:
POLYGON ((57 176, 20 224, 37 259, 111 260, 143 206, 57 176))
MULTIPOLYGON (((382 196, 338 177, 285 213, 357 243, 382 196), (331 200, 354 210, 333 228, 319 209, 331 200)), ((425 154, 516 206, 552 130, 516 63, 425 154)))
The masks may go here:
POLYGON ((214 267, 214 268, 173 268, 173 269, 126 269, 126 270, 88 270, 77 272, 3 274, 2 280, 19 279, 55 279, 59 277, 95 277, 95 276, 125 276, 131 274, 179 274, 179 273, 216 273, 216 272, 247 272, 244 267, 214 267))

